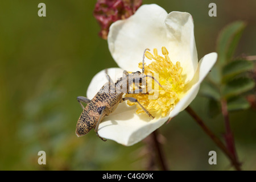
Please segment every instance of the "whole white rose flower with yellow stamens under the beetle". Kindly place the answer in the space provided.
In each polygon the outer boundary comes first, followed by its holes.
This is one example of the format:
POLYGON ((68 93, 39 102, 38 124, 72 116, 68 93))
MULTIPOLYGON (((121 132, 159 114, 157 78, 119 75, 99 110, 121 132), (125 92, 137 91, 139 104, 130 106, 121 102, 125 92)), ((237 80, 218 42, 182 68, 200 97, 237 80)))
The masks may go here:
MULTIPOLYGON (((143 5, 130 18, 112 24, 108 35, 109 50, 120 68, 108 69, 110 77, 117 80, 122 77, 123 70, 141 71, 139 62, 143 51, 149 48, 153 51, 145 54, 148 58, 145 59, 145 74, 158 73, 163 88, 159 88, 156 100, 147 100, 146 94, 129 94, 155 114, 154 119, 139 106, 122 102, 100 123, 98 134, 102 138, 131 146, 193 101, 201 82, 217 60, 217 53, 212 52, 198 62, 193 29, 189 13, 172 11, 168 14, 155 4, 143 5)), ((97 73, 90 82, 87 97, 92 99, 107 81, 105 71, 97 73)))

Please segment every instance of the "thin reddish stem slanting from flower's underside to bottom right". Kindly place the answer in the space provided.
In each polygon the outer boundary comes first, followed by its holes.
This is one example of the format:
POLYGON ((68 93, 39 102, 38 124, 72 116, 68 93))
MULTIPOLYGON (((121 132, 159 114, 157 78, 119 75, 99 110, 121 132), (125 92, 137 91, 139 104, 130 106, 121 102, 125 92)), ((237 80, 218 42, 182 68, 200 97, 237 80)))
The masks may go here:
POLYGON ((221 142, 221 140, 214 135, 214 133, 204 124, 203 120, 193 111, 193 109, 188 106, 185 109, 192 118, 195 119, 195 121, 199 124, 199 126, 204 130, 204 132, 213 140, 214 143, 228 156, 230 161, 232 162, 233 166, 238 170, 241 171, 240 163, 237 162, 236 158, 232 155, 232 153, 226 148, 224 143, 221 142))

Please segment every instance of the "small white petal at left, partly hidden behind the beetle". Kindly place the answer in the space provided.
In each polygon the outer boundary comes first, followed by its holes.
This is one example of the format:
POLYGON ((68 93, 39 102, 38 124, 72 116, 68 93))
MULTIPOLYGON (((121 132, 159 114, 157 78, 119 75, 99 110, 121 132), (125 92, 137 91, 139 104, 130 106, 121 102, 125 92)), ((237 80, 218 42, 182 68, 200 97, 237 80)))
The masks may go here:
MULTIPOLYGON (((116 81, 119 77, 122 77, 123 69, 108 68, 107 73, 113 81, 116 81)), ((106 82, 108 82, 108 79, 106 77, 106 71, 104 69, 104 70, 98 72, 92 78, 92 81, 90 81, 90 84, 89 84, 87 92, 86 92, 87 98, 92 99, 106 82)))

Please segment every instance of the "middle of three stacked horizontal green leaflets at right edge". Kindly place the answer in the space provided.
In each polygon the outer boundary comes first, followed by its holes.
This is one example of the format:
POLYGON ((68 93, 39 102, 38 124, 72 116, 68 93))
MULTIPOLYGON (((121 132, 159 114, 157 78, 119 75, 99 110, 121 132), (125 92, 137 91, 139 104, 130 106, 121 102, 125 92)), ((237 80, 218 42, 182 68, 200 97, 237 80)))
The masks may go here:
POLYGON ((254 86, 255 83, 250 78, 240 77, 226 83, 222 90, 222 94, 225 98, 230 98, 247 92, 254 88, 254 86))

